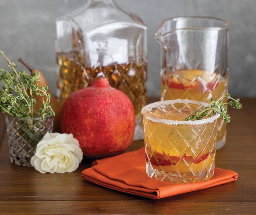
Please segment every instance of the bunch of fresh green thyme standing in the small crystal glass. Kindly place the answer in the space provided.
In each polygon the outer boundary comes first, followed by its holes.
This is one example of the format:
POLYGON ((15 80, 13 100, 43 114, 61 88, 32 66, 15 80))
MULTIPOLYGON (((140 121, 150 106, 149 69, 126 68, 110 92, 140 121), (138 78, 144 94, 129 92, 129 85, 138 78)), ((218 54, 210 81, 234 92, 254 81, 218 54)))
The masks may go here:
POLYGON ((0 87, 0 111, 17 118, 41 117, 45 120, 47 116, 54 116, 50 94, 47 93, 48 86, 38 86, 39 73, 31 76, 25 71, 17 72, 15 63, 11 62, 2 51, 0 55, 7 60, 9 68, 9 70, 0 69, 0 82, 4 84, 0 87), (38 113, 34 110, 36 104, 34 95, 44 97, 38 113))

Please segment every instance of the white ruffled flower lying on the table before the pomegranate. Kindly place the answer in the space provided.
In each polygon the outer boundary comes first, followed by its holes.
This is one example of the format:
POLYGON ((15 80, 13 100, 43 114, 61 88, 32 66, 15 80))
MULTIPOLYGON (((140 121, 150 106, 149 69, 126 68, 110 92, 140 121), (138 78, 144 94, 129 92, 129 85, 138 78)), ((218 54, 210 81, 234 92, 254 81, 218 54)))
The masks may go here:
POLYGON ((82 159, 83 152, 73 134, 46 133, 30 162, 41 173, 65 173, 75 171, 82 159))

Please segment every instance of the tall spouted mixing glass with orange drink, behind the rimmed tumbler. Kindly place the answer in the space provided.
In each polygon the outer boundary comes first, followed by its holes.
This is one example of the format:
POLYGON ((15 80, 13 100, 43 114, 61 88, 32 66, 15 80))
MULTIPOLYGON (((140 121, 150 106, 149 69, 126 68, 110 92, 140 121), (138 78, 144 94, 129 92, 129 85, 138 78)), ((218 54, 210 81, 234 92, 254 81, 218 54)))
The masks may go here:
MULTIPOLYGON (((163 21, 155 38, 161 51, 161 100, 210 102, 228 90, 229 22, 212 17, 163 21)), ((225 145, 226 123, 219 118, 217 149, 225 145)))

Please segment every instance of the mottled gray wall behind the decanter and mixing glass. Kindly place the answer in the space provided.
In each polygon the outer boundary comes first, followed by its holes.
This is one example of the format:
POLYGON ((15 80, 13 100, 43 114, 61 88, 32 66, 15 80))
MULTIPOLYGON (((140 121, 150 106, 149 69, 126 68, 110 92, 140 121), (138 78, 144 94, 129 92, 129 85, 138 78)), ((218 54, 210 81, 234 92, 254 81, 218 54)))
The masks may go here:
MULTIPOLYGON (((0 0, 0 50, 43 71, 56 90, 55 19, 86 0, 0 0)), ((160 95, 160 46, 154 32, 167 17, 215 16, 231 22, 230 85, 235 96, 256 96, 256 0, 115 0, 148 26, 148 95, 160 95)), ((3 60, 0 67, 3 67, 3 60)), ((20 69, 24 67, 20 66, 20 69)))

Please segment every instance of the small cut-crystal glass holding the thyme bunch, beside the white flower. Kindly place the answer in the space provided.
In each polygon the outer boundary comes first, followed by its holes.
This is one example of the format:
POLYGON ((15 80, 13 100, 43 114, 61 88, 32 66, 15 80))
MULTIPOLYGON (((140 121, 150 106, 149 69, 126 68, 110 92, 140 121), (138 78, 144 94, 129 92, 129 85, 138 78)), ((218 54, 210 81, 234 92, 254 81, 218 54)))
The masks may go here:
POLYGON ((53 131, 53 118, 16 118, 5 114, 11 163, 31 167, 38 142, 53 131))

